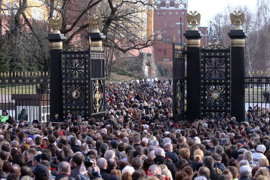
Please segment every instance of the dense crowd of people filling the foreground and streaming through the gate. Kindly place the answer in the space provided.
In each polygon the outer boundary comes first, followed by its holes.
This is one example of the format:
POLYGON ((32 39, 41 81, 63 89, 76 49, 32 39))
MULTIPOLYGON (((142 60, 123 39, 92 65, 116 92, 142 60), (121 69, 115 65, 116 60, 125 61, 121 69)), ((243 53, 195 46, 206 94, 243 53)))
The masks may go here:
POLYGON ((268 117, 177 122, 170 80, 107 83, 105 99, 96 119, 1 122, 0 179, 270 180, 268 117))

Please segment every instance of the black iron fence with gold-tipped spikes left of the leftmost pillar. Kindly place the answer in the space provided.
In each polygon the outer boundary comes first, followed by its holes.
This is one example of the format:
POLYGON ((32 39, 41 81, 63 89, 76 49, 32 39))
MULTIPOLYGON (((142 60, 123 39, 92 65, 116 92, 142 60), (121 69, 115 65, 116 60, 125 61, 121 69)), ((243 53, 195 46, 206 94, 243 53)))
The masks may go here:
POLYGON ((48 72, 0 73, 0 111, 13 120, 47 121, 50 117, 50 78, 48 72))

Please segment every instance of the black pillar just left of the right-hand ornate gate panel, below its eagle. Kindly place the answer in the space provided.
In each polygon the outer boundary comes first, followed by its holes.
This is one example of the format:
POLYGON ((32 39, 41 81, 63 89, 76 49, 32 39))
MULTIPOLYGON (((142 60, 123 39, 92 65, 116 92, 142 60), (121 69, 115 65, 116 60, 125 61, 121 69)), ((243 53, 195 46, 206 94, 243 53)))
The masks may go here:
POLYGON ((203 34, 196 26, 184 33, 187 38, 187 119, 194 122, 200 117, 200 46, 203 34))

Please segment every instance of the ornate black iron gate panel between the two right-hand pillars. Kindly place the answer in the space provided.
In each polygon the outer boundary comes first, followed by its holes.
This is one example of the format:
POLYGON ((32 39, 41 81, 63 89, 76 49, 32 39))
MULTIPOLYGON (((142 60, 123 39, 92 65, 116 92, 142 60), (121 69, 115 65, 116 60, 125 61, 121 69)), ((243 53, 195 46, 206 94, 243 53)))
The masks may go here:
POLYGON ((224 119, 231 110, 230 47, 201 48, 201 116, 224 119))

